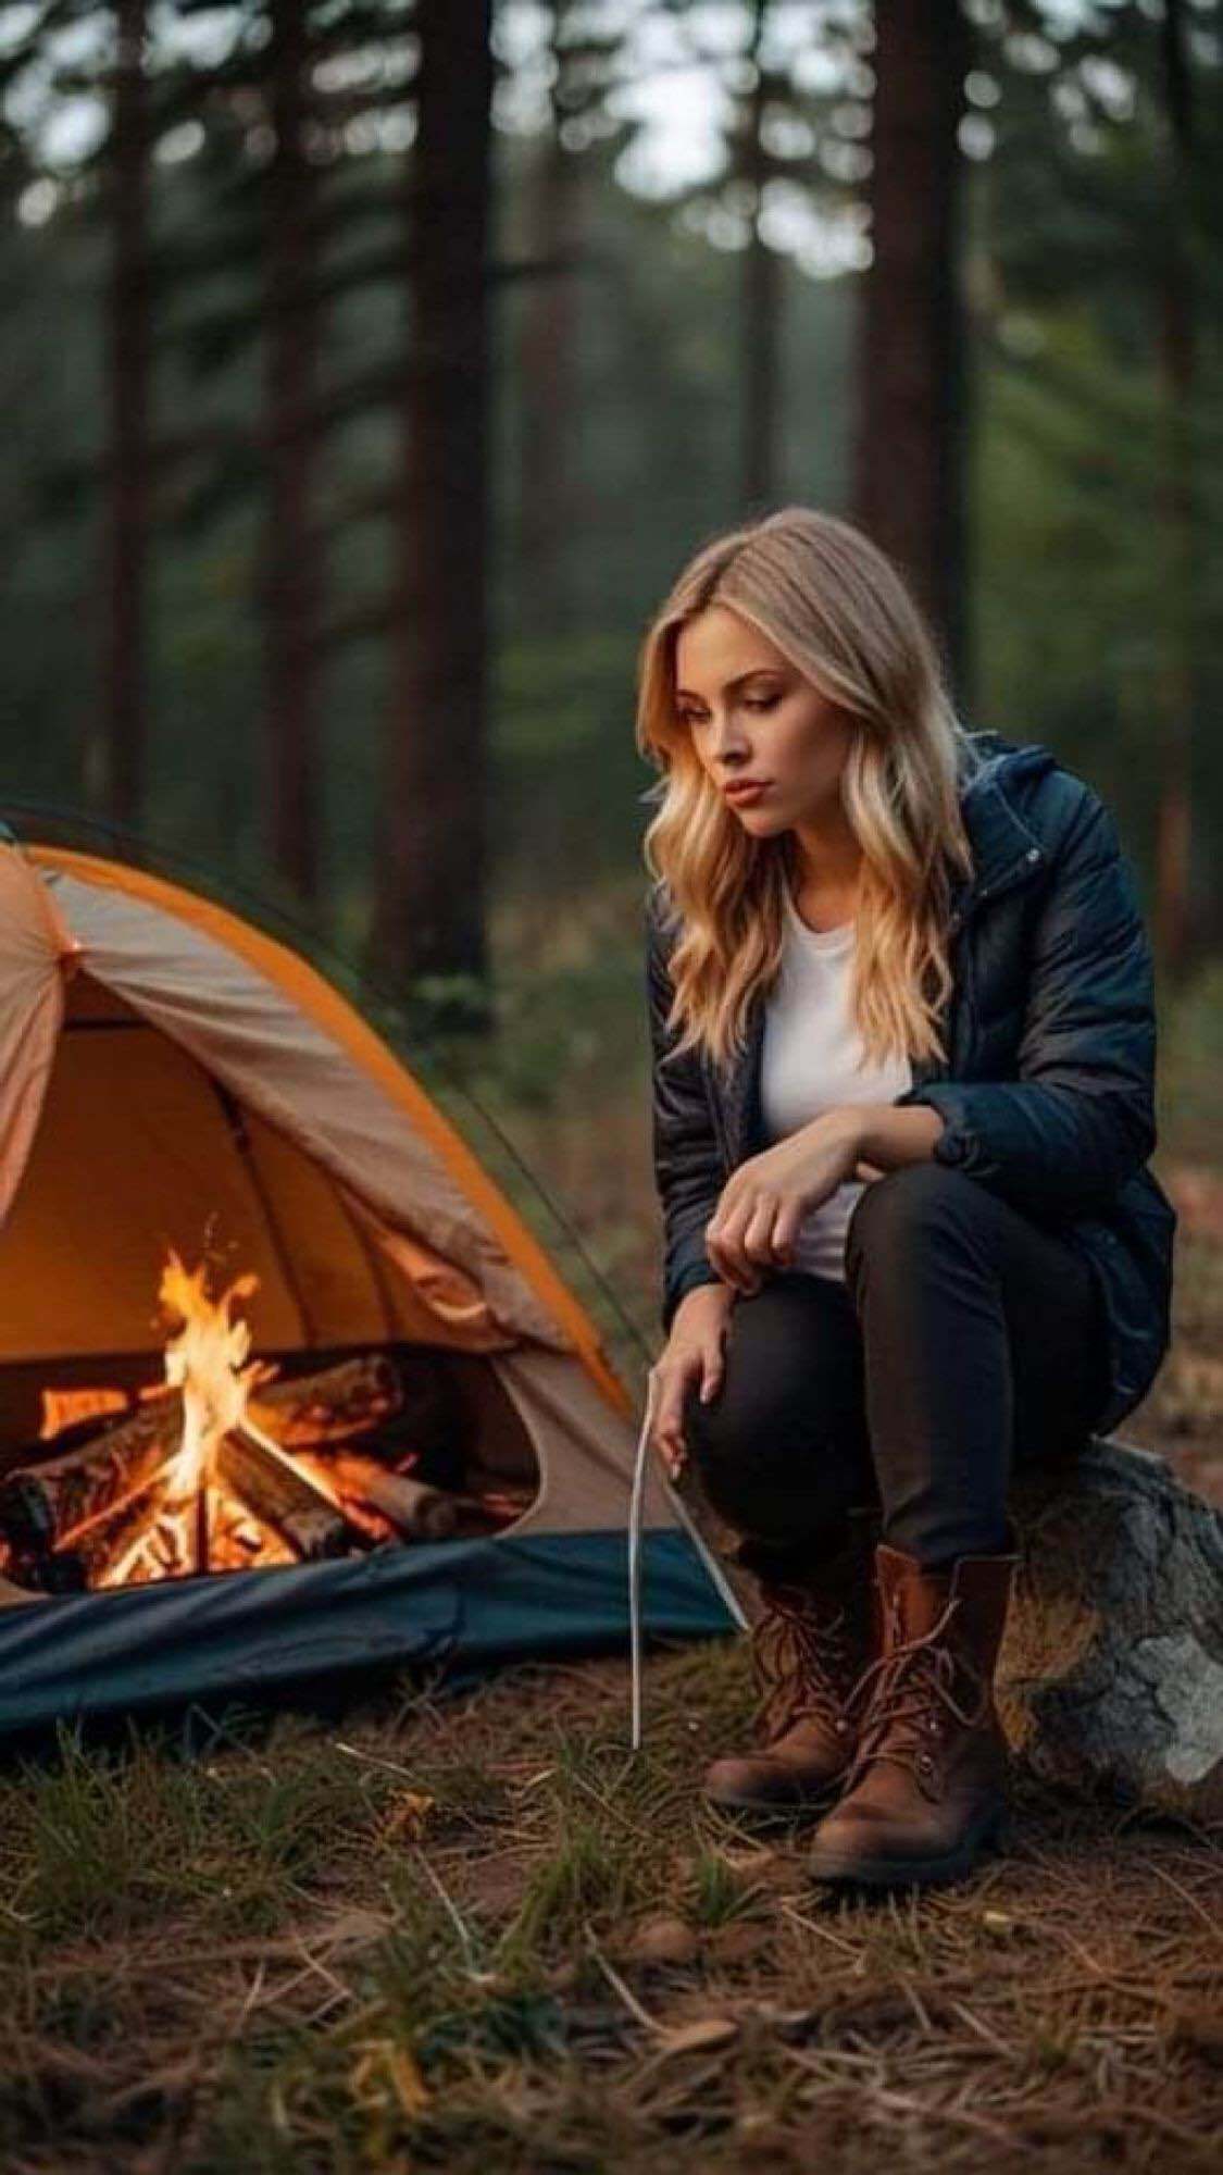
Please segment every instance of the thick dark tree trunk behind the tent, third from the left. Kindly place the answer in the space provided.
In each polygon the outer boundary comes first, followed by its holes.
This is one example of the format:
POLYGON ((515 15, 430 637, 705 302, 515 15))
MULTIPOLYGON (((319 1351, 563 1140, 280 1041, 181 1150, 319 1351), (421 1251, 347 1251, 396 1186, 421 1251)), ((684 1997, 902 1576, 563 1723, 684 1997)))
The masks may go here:
POLYGON ((411 365, 374 957, 485 977, 490 0, 420 0, 411 365))

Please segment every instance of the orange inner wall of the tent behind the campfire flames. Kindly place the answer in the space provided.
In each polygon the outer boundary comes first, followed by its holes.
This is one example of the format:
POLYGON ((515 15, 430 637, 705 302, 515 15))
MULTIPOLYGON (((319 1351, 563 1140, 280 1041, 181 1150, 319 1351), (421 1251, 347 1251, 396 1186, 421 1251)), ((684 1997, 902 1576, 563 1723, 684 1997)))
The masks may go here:
POLYGON ((268 1348, 516 1342, 464 1270, 387 1231, 168 1035, 70 1016, 0 1255, 0 1357, 157 1351, 157 1268, 211 1225, 259 1277, 250 1325, 268 1348))

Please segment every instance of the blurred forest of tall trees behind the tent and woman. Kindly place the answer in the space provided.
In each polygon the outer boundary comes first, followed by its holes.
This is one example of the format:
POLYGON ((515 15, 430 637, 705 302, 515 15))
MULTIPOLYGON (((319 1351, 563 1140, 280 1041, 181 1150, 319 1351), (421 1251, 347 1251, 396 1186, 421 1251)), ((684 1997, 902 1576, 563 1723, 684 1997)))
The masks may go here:
POLYGON ((2 813, 363 977, 640 1359, 635 648, 842 511, 1116 809, 1210 1205, 1221 72, 1214 0, 0 9, 2 813))

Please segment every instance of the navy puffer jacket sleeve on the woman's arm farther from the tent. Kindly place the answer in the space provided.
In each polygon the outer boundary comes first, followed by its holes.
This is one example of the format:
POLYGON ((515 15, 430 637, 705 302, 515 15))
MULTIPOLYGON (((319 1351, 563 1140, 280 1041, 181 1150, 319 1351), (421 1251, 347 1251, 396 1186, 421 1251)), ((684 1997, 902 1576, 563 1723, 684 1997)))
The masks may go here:
POLYGON ((938 1164, 1053 1220, 1110 1203, 1156 1144, 1153 970, 1116 824, 1084 785, 1034 931, 1014 1081, 929 1081, 938 1164))

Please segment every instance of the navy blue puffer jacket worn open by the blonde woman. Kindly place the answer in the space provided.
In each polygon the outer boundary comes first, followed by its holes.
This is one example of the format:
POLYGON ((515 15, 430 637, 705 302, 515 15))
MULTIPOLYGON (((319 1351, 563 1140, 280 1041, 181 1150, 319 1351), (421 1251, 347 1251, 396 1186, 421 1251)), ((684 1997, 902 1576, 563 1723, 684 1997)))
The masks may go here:
MULTIPOLYGON (((897 1103, 944 1118, 938 1164, 1062 1231, 1103 1294, 1108 1431, 1147 1394, 1171 1340, 1175 1209, 1147 1157, 1156 1144, 1151 953, 1134 879, 1101 798, 1040 746, 973 733, 986 757, 962 785, 973 874, 951 896, 949 1061, 914 1061, 897 1103)), ((696 1283, 729 1174, 764 1148, 764 1000, 727 1066, 666 1061, 677 1035, 666 890, 646 898, 653 1161, 664 1214, 662 1327, 696 1283)))

